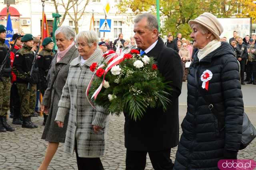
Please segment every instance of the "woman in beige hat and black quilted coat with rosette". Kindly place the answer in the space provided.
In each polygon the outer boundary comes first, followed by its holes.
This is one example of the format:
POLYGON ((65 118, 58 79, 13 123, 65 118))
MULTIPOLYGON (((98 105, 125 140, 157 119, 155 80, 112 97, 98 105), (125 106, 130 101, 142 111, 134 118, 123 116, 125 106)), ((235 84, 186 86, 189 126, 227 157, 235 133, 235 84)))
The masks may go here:
POLYGON ((198 48, 188 74, 188 107, 174 170, 217 170, 221 159, 237 159, 244 104, 239 66, 231 45, 220 42, 223 26, 205 12, 190 20, 198 48))

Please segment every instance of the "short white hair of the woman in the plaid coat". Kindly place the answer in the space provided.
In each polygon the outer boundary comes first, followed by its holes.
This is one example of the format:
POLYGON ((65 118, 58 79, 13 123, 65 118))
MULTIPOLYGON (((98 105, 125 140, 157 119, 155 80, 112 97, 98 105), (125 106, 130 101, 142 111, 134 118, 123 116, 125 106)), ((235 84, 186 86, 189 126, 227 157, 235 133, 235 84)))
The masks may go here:
POLYGON ((98 36, 95 31, 82 31, 79 32, 76 36, 76 41, 78 40, 89 43, 88 45, 91 47, 91 43, 98 42, 98 36))

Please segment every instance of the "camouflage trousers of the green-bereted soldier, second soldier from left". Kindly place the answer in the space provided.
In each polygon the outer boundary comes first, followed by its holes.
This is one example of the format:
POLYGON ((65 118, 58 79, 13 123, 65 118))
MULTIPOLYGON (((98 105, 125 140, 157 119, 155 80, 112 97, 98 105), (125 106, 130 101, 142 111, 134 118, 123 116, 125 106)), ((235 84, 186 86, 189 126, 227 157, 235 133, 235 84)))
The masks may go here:
POLYGON ((20 114, 24 117, 34 113, 36 105, 36 84, 31 85, 31 90, 27 90, 27 84, 16 83, 20 96, 20 114))

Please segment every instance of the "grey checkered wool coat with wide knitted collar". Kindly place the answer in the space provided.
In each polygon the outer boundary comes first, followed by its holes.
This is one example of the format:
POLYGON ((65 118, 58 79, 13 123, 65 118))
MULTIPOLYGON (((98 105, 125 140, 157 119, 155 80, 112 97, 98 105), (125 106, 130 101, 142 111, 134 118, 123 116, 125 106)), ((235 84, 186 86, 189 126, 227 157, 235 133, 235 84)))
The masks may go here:
POLYGON ((79 157, 104 156, 108 115, 102 107, 93 109, 86 99, 86 88, 93 74, 90 65, 99 63, 101 59, 102 52, 96 49, 84 65, 80 65, 81 56, 70 63, 55 121, 64 122, 65 115, 69 113, 64 152, 71 156, 74 153, 75 141, 79 157), (102 127, 102 130, 95 133, 92 125, 102 127))

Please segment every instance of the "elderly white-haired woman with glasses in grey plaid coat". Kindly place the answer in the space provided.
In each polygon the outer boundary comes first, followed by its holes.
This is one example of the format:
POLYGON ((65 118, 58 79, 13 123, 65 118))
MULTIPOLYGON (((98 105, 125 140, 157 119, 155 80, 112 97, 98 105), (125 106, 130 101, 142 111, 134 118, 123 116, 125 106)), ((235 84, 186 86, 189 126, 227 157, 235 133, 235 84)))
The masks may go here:
POLYGON ((105 151, 108 115, 102 107, 91 107, 85 93, 93 75, 90 65, 102 60, 102 52, 94 31, 80 32, 76 40, 79 57, 70 63, 55 121, 63 127, 69 113, 64 151, 72 156, 75 150, 78 170, 103 170, 100 157, 105 151))

